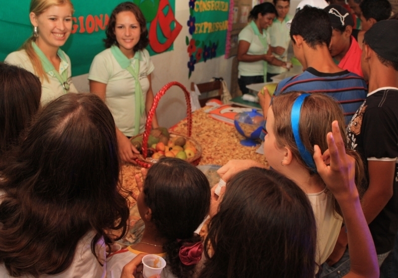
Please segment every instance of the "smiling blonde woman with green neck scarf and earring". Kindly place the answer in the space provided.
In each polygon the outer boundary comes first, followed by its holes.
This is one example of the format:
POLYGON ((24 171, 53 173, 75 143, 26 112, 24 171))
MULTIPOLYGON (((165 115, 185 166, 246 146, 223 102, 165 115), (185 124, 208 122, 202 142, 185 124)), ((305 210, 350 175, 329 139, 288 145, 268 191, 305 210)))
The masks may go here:
POLYGON ((60 49, 72 31, 73 5, 70 0, 31 0, 29 9, 33 34, 4 60, 40 78, 41 103, 65 93, 77 93, 72 83, 71 60, 60 49))

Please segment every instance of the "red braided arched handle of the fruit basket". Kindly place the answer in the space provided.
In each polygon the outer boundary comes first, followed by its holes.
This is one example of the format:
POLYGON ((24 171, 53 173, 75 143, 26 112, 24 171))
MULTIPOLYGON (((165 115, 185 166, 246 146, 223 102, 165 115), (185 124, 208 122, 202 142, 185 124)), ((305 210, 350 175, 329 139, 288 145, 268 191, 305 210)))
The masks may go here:
MULTIPOLYGON (((145 131, 144 134, 142 136, 142 156, 144 157, 144 159, 146 158, 147 155, 147 149, 148 149, 148 138, 149 138, 149 133, 151 132, 151 128, 152 128, 152 119, 153 119, 153 115, 155 114, 156 111, 156 107, 158 106, 159 100, 160 98, 166 93, 167 90, 169 90, 172 86, 178 86, 181 89, 183 89, 183 92, 185 94, 185 100, 187 101, 187 118, 188 118, 188 137, 191 137, 191 131, 192 131, 192 111, 191 111, 191 97, 190 97, 190 93, 187 91, 187 88, 184 87, 184 85, 182 85, 179 82, 173 81, 170 82, 168 84, 166 84, 162 89, 160 89, 160 91, 155 95, 154 99, 153 99, 153 104, 151 109, 148 112, 148 118, 146 120, 146 124, 145 124, 145 131)), ((137 163, 140 164, 146 164, 147 163, 143 163, 142 161, 136 160, 137 163)), ((144 165, 140 165, 140 166, 144 166, 144 165)), ((144 167, 145 167, 144 166, 144 167)), ((146 167, 149 168, 149 167, 146 167)))

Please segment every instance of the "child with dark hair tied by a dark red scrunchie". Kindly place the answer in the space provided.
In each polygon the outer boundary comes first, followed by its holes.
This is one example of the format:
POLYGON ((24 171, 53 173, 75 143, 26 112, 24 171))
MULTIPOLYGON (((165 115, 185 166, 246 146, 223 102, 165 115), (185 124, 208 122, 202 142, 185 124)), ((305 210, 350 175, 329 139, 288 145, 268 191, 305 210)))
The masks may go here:
POLYGON ((144 185, 136 175, 141 192, 133 197, 145 223, 143 237, 110 257, 107 277, 119 278, 124 265, 147 253, 165 258, 161 277, 191 278, 203 251, 195 230, 209 211, 209 183, 198 168, 177 158, 161 159, 142 173, 144 185))

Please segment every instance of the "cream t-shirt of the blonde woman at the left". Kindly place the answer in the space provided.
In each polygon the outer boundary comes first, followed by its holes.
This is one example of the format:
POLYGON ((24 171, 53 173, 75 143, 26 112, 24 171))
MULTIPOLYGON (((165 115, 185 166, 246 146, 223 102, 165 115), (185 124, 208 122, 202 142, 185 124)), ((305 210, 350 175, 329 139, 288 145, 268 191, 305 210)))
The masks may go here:
MULTIPOLYGON (((62 51, 62 50, 61 50, 62 51)), ((61 57, 61 64, 59 66, 59 73, 62 74, 64 71, 67 71, 68 76, 68 84, 69 84, 69 93, 78 93, 75 85, 72 83, 72 70, 71 70, 71 60, 69 59, 68 55, 63 52, 66 58, 66 61, 63 60, 61 57)), ((36 74, 32 65, 32 62, 29 60, 28 55, 26 54, 25 50, 19 50, 8 54, 5 57, 4 62, 12 65, 19 66, 24 68, 25 70, 36 74)), ((50 72, 47 73, 48 81, 42 80, 41 81, 41 104, 44 105, 61 95, 65 94, 64 89, 60 81, 56 78, 56 76, 50 72)))

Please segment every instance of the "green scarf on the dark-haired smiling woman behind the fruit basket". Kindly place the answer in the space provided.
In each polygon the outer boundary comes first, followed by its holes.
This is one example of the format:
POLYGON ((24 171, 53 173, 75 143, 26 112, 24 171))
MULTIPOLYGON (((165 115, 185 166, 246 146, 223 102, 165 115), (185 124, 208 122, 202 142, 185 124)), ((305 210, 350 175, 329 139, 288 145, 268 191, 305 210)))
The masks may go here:
POLYGON ((144 96, 142 94, 142 88, 139 80, 140 72, 140 59, 141 55, 139 51, 135 52, 133 57, 133 66, 131 66, 131 60, 128 59, 121 50, 116 46, 110 47, 110 52, 115 57, 117 63, 122 69, 127 70, 135 79, 135 125, 134 135, 137 135, 140 131, 140 119, 145 111, 144 96))

